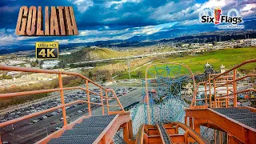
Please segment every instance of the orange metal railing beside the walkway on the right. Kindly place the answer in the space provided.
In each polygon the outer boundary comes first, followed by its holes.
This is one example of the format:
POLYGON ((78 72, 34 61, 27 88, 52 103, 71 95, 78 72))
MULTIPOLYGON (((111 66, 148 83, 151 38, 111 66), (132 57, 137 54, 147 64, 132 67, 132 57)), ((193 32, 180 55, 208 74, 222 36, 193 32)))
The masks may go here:
POLYGON ((222 74, 210 74, 208 81, 198 82, 190 107, 218 108, 232 105, 237 107, 238 94, 256 91, 254 88, 238 90, 238 81, 244 80, 245 78, 256 77, 256 74, 246 74, 238 78, 237 69, 253 62, 256 62, 256 59, 242 62, 222 74), (199 90, 200 86, 203 87, 203 90, 199 90), (230 99, 233 100, 233 104, 230 104, 230 99))

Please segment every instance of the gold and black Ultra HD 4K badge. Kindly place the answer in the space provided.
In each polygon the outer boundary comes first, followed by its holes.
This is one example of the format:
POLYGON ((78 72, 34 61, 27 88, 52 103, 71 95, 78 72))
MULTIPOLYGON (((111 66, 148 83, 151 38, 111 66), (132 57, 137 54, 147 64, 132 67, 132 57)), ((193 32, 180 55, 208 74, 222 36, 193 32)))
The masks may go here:
POLYGON ((58 42, 36 42, 35 58, 57 59, 58 58, 58 42))

